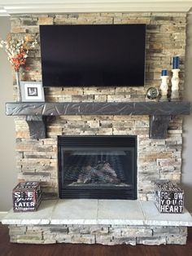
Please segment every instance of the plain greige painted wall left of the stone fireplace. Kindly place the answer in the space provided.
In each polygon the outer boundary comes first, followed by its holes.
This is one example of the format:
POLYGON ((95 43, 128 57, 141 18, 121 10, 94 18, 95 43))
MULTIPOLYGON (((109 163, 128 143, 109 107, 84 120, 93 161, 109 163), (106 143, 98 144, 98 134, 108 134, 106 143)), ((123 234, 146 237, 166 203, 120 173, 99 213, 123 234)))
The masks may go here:
MULTIPOLYGON (((8 17, 0 17, 0 38, 10 32, 8 17)), ((11 208, 11 191, 17 183, 15 169, 15 124, 13 117, 5 114, 5 103, 13 99, 11 65, 0 49, 0 211, 11 208)))

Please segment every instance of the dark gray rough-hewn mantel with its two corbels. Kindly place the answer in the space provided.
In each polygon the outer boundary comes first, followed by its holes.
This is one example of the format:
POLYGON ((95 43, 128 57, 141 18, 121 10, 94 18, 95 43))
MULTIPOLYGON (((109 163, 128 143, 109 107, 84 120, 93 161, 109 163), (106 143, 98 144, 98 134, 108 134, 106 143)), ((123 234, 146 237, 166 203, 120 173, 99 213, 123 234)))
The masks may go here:
POLYGON ((30 135, 46 138, 46 117, 63 115, 149 115, 151 139, 164 139, 172 116, 190 115, 190 102, 14 102, 6 104, 7 116, 26 116, 30 135))

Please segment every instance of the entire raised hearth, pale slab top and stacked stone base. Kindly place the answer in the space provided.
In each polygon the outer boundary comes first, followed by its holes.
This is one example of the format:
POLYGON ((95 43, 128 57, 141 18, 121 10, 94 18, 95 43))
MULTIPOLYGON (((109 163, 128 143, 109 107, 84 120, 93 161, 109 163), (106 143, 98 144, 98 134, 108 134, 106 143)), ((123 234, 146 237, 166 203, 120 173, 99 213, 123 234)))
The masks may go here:
POLYGON ((159 214, 153 201, 73 199, 42 201, 33 213, 11 210, 2 224, 17 243, 185 245, 192 217, 185 209, 159 214))

